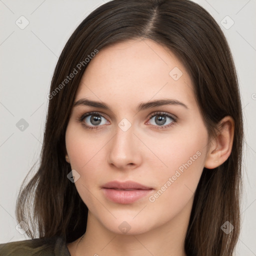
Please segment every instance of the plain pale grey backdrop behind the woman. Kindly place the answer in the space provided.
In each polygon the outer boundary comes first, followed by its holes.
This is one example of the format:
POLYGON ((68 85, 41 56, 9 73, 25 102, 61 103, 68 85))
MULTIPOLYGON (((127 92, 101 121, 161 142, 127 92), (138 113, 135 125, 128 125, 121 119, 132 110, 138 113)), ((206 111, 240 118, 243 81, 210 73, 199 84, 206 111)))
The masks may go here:
MULTIPOLYGON (((52 73, 72 31, 104 2, 0 0, 0 243, 28 239, 15 228, 15 202, 22 180, 39 157, 52 73)), ((196 2, 224 31, 238 73, 246 144, 237 255, 252 256, 256 255, 256 1, 196 2)))

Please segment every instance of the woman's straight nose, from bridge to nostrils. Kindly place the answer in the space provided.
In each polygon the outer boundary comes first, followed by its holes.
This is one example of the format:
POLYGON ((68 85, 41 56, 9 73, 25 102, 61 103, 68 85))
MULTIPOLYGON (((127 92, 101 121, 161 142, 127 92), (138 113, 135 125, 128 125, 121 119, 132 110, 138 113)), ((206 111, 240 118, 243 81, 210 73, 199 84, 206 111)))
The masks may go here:
POLYGON ((133 134, 133 126, 123 131, 118 126, 116 134, 109 143, 108 163, 116 169, 133 169, 141 164, 141 142, 133 134))

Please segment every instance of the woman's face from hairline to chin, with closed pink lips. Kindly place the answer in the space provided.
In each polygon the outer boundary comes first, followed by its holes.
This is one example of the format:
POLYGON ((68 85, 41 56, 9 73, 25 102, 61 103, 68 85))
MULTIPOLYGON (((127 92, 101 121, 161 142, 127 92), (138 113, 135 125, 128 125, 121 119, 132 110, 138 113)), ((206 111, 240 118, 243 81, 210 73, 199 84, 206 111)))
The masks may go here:
POLYGON ((102 227, 138 234, 188 221, 208 141, 192 88, 175 55, 149 39, 90 60, 65 142, 76 189, 102 227))

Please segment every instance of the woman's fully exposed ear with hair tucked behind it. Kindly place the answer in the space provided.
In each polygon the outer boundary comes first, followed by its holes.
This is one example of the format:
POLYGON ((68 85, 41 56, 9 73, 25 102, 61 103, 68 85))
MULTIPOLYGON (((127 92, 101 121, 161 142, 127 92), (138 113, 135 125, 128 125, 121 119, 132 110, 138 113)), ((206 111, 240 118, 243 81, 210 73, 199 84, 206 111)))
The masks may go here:
POLYGON ((230 155, 233 136, 234 120, 231 116, 225 116, 218 123, 216 138, 213 138, 207 151, 204 167, 208 169, 221 165, 230 155))

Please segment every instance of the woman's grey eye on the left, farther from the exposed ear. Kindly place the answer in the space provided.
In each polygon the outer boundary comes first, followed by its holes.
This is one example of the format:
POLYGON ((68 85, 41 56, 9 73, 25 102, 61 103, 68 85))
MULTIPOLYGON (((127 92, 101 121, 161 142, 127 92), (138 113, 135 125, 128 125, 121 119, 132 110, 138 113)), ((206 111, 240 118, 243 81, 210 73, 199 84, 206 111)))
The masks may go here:
POLYGON ((88 129, 97 129, 98 126, 109 123, 106 118, 98 112, 85 113, 79 118, 79 121, 88 129))

